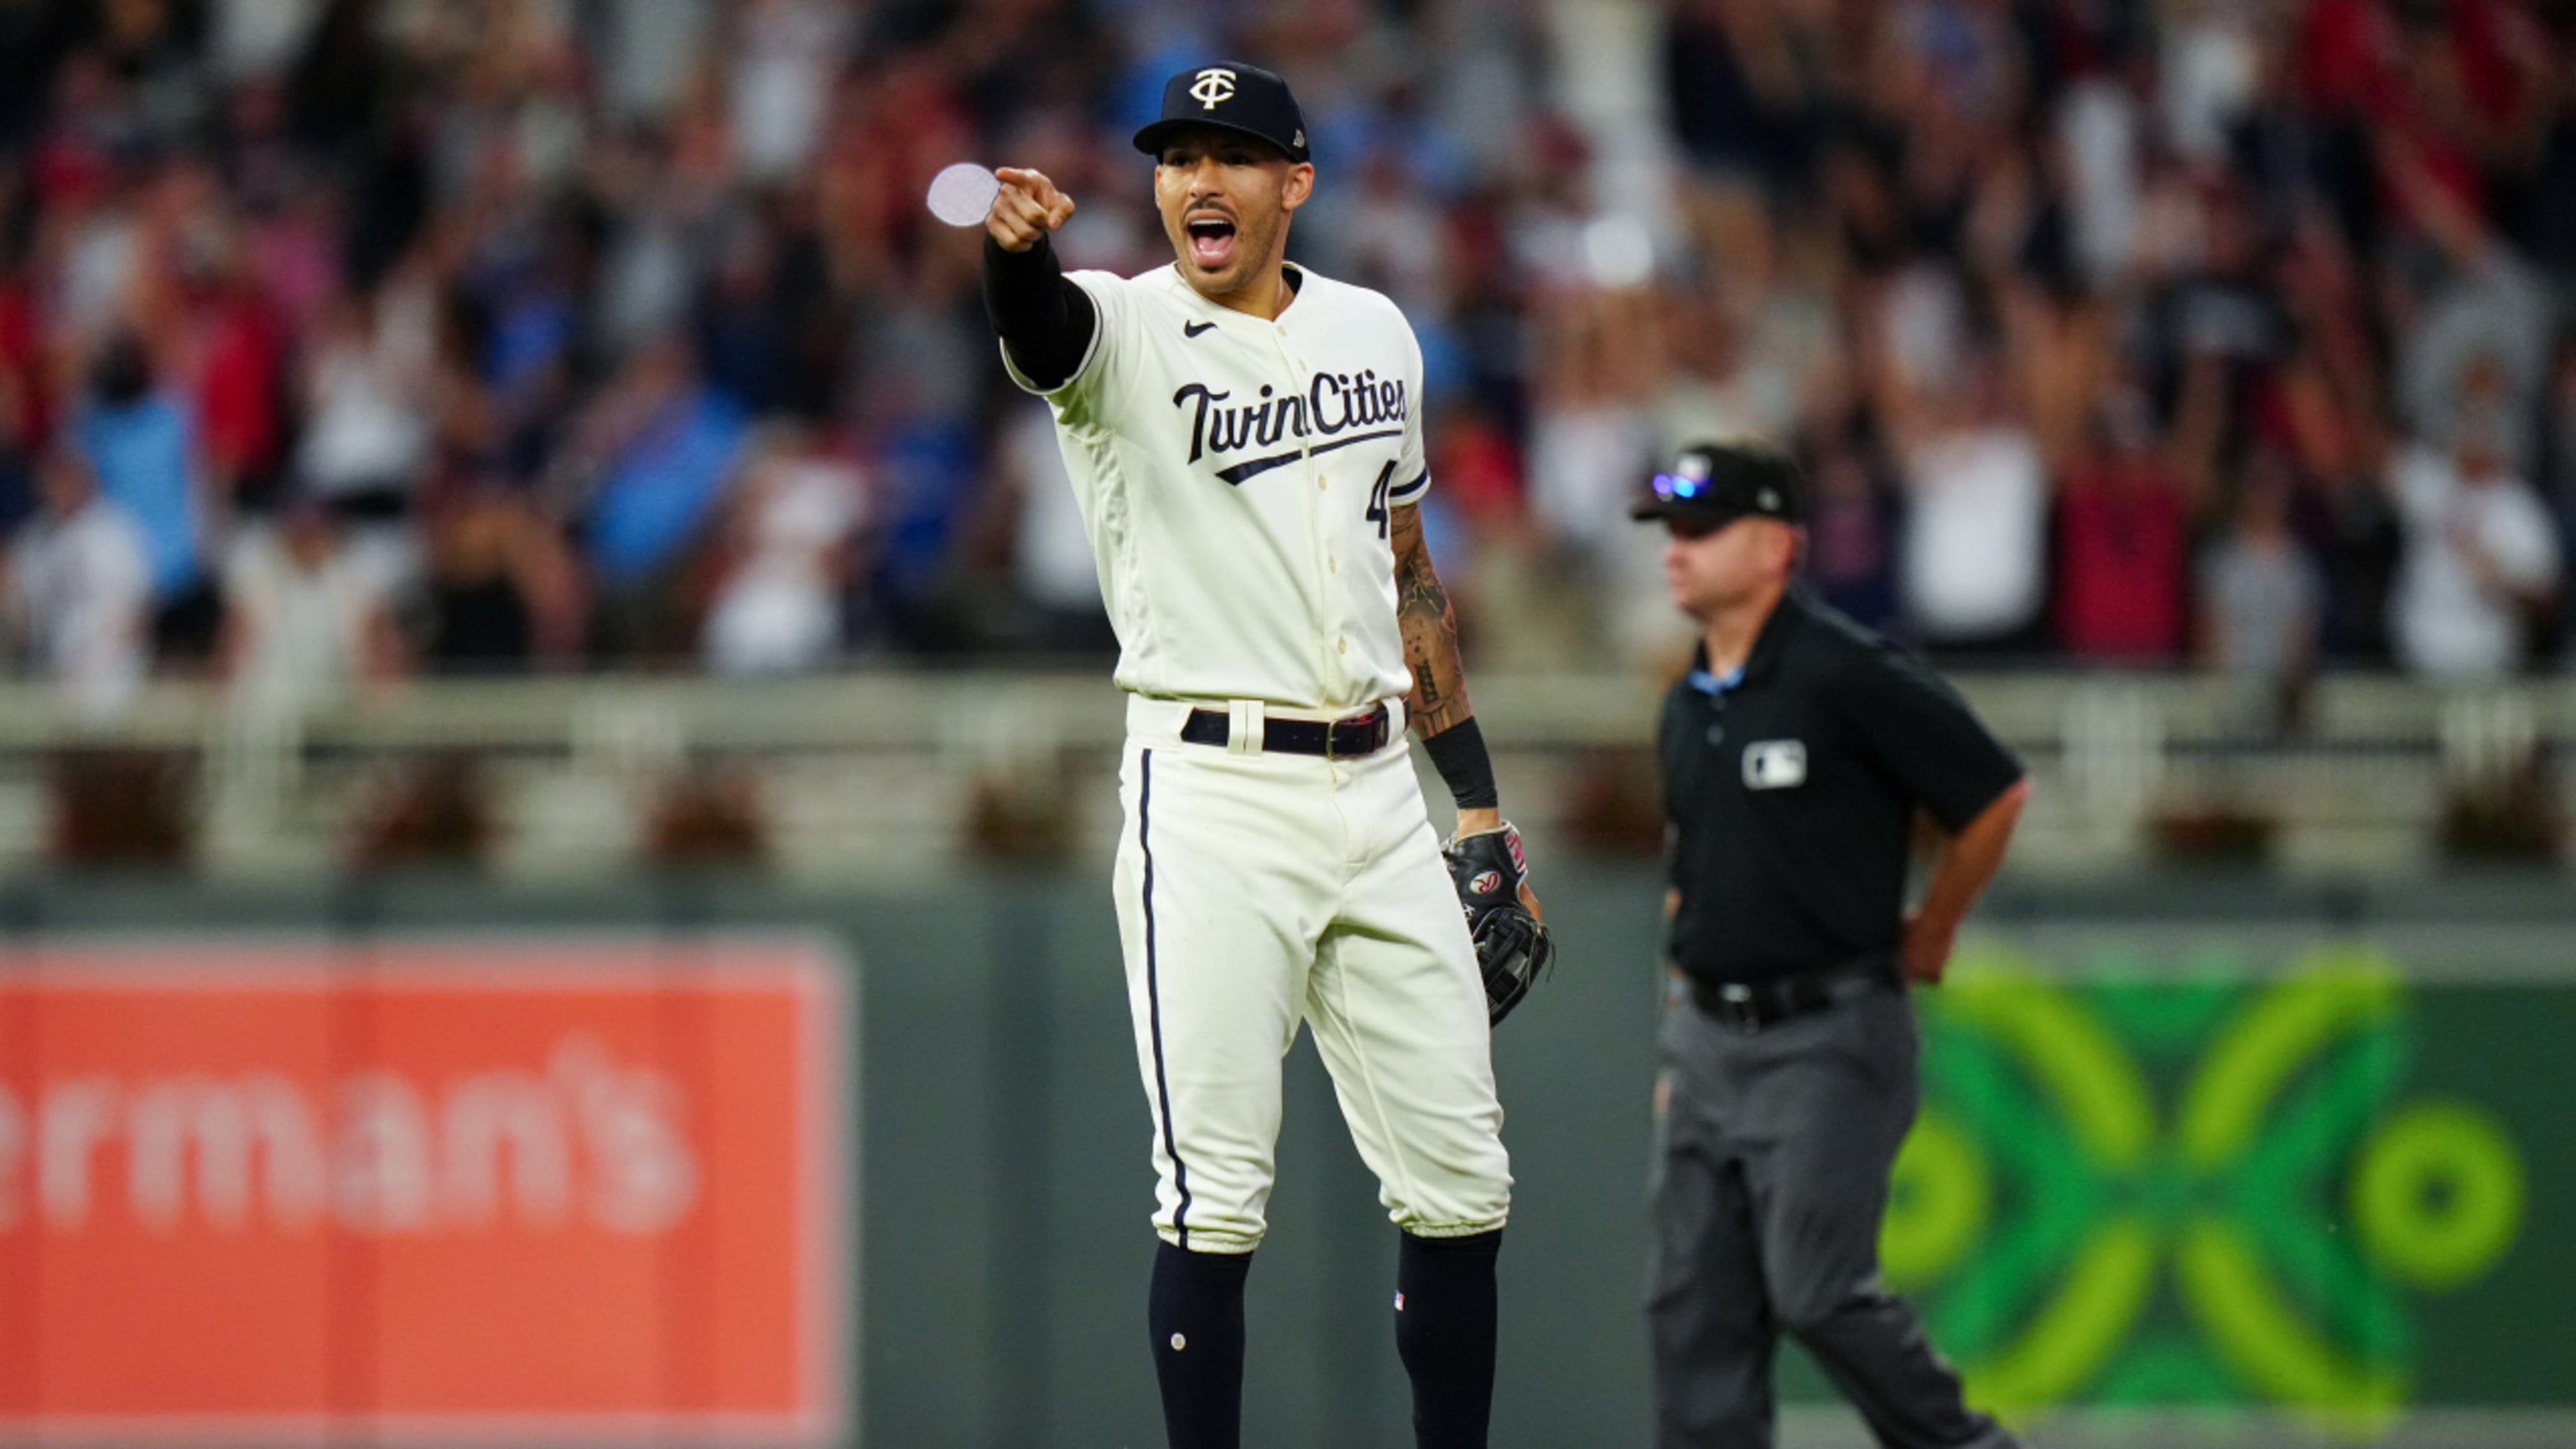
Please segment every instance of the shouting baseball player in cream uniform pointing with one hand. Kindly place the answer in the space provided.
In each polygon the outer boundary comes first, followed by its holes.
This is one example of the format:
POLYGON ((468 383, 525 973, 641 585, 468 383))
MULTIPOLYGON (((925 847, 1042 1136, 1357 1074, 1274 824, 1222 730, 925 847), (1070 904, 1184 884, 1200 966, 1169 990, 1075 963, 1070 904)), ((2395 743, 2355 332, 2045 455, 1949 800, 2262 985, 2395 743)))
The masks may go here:
POLYGON ((1074 199, 999 170, 984 304, 1054 410, 1128 691, 1115 892, 1162 1178, 1164 1428, 1239 1439, 1303 1021, 1401 1227, 1417 1441, 1476 1446, 1512 1204, 1489 1021, 1546 949, 1422 544, 1422 351, 1388 299, 1285 266, 1314 165, 1278 75, 1175 75, 1136 150, 1175 263, 1064 276, 1048 232, 1074 199), (1406 727, 1458 804, 1448 866, 1406 727))

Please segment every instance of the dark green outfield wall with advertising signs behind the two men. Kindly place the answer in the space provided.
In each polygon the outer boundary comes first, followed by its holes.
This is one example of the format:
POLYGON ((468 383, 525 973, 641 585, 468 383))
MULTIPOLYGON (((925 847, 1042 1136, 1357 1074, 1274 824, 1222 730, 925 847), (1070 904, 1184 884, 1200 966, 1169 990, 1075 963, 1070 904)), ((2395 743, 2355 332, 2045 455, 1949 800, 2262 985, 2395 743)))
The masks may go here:
MULTIPOLYGON (((1659 890, 1540 884, 1494 1444, 1643 1444, 1659 890)), ((2571 946, 2545 879, 1999 897, 1888 1274, 2043 1446, 2576 1441, 2571 946)), ((0 1439, 1159 1441, 1115 962, 1090 877, 0 890, 0 1439)), ((1409 1444, 1394 1230, 1288 1083, 1247 1444, 1409 1444)))

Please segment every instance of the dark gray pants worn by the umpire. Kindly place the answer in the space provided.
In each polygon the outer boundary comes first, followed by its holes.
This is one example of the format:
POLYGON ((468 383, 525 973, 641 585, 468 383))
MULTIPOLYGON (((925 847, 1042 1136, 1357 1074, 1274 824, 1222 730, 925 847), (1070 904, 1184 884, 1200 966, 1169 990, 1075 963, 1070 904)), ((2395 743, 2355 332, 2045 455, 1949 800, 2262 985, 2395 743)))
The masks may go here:
POLYGON ((1888 1449, 2014 1439, 1878 1281, 1888 1165, 1914 1122, 1904 993, 1757 1034, 1664 1008, 1646 1320, 1662 1449, 1770 1449, 1772 1348, 1795 1333, 1888 1449))

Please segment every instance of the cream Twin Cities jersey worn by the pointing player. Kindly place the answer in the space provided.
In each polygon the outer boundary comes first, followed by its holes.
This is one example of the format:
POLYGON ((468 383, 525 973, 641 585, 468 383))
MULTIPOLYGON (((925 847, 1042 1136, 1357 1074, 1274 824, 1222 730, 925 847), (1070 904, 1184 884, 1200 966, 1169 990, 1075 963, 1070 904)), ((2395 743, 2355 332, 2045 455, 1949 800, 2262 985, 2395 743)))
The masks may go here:
POLYGON ((1388 511, 1430 487, 1422 345, 1386 297, 1291 271, 1275 322, 1170 266, 1072 273, 1100 325, 1043 397, 1133 694, 1342 712, 1412 688, 1388 511))

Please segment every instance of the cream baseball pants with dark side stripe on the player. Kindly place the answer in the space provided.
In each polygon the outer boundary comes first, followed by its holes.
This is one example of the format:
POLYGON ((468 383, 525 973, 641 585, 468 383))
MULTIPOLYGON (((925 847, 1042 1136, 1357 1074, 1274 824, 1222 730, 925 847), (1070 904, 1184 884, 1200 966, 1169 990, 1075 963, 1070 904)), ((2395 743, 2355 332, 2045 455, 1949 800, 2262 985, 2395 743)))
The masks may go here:
POLYGON ((1422 1238, 1502 1227, 1512 1171, 1484 982, 1401 706, 1360 758, 1262 753, 1247 704, 1234 743, 1190 745, 1190 709, 1133 696, 1118 776, 1118 936, 1157 1232, 1200 1253, 1260 1245, 1298 1024, 1388 1217, 1422 1238))

